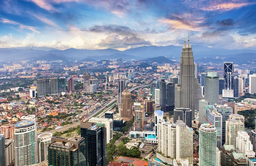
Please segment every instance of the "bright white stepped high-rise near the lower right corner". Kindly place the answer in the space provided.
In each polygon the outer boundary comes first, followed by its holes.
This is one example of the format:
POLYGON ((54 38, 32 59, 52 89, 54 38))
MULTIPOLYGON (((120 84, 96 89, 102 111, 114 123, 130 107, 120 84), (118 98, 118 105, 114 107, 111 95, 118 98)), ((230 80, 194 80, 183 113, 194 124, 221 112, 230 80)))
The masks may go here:
POLYGON ((250 141, 250 136, 247 132, 239 131, 236 137, 236 152, 244 153, 247 158, 254 158, 253 144, 250 141))

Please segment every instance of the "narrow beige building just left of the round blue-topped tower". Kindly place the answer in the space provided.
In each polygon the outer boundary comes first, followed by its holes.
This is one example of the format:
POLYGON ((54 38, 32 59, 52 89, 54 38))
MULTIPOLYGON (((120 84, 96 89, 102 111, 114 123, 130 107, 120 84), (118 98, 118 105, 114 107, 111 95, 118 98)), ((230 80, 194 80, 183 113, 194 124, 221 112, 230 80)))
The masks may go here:
POLYGON ((5 141, 5 166, 14 165, 14 140, 7 139, 5 141))

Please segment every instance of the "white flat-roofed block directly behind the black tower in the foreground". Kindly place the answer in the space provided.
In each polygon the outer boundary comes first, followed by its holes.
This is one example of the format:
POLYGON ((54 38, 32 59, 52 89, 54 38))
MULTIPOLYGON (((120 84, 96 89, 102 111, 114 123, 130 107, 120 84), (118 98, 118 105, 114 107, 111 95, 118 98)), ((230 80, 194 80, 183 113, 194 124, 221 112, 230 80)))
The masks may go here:
POLYGON ((110 143, 111 140, 113 139, 113 120, 111 118, 97 118, 97 117, 92 117, 88 121, 89 123, 94 123, 94 124, 104 124, 104 127, 106 128, 106 139, 107 143, 110 143))

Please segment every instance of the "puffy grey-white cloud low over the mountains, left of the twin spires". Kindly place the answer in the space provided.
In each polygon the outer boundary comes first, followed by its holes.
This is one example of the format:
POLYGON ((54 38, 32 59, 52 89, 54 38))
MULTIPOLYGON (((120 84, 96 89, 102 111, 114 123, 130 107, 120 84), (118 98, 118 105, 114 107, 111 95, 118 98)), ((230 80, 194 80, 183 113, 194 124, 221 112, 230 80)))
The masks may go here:
POLYGON ((119 35, 111 35, 106 39, 102 39, 98 45, 109 48, 126 48, 131 45, 151 45, 151 42, 137 37, 120 39, 119 35))

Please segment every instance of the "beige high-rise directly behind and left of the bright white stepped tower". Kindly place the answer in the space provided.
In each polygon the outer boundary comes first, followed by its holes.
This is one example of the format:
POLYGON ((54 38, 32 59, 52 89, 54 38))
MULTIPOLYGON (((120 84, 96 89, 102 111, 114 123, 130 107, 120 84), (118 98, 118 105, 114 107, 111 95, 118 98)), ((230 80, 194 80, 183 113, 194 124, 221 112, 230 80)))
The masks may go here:
POLYGON ((236 147, 237 132, 244 131, 244 123, 236 119, 226 121, 226 143, 236 147))

